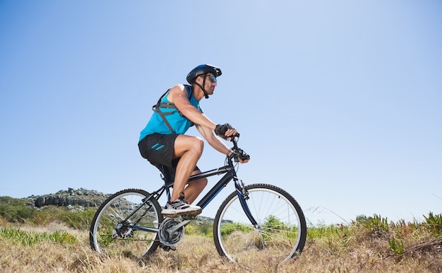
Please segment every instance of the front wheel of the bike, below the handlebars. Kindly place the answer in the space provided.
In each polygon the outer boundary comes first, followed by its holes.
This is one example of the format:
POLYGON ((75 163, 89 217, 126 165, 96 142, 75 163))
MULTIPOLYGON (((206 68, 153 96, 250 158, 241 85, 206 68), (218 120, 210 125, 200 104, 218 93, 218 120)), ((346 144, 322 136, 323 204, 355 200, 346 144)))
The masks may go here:
POLYGON ((218 253, 232 262, 252 265, 256 260, 287 262, 300 253, 306 242, 306 220, 297 201, 285 190, 268 184, 245 187, 251 224, 232 192, 215 216, 213 238, 218 253))

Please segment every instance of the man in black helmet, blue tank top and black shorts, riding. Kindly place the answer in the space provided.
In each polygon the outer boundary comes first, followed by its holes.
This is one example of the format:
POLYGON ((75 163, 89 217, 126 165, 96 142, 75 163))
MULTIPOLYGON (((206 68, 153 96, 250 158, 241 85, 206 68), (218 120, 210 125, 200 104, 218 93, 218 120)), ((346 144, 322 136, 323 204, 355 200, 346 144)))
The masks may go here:
MULTIPOLYGON (((201 64, 192 69, 186 77, 190 85, 178 84, 170 88, 157 105, 148 124, 141 131, 138 148, 141 156, 153 165, 163 165, 174 176, 172 196, 162 214, 179 216, 198 215, 201 207, 193 206, 198 195, 207 185, 207 178, 192 181, 189 177, 201 170, 196 166, 203 153, 203 140, 197 136, 186 135, 189 127, 195 125, 198 132, 215 150, 223 154, 232 151, 219 139, 229 139, 237 134, 229 124, 215 124, 203 114, 199 102, 213 95, 217 77, 222 72, 216 66, 201 64)), ((239 162, 246 163, 248 160, 239 162)))

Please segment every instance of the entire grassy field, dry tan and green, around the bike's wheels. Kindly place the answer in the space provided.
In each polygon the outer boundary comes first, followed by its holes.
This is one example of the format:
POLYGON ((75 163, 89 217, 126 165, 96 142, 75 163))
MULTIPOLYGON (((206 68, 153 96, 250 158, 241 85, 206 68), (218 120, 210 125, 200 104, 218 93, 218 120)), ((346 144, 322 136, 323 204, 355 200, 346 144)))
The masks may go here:
POLYGON ((176 251, 158 249, 143 260, 100 257, 90 249, 89 222, 82 219, 90 212, 71 217, 63 209, 49 211, 22 223, 0 218, 1 272, 442 272, 440 214, 430 213, 424 223, 389 223, 374 215, 311 226, 296 259, 239 265, 220 257, 210 233, 196 226, 189 226, 176 251))

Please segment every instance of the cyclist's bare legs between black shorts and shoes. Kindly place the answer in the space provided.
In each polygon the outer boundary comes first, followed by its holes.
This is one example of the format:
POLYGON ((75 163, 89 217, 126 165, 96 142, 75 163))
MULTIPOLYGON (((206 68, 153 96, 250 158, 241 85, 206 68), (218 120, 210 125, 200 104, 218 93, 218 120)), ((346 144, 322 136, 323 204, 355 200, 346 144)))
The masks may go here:
MULTIPOLYGON (((186 189, 186 191, 184 191, 184 187, 186 187, 187 180, 189 180, 189 177, 193 173, 198 159, 200 159, 203 154, 203 148, 203 140, 196 136, 180 134, 177 136, 177 139, 175 139, 173 158, 180 159, 175 172, 174 187, 172 190, 172 196, 170 197, 171 200, 178 199, 180 192, 184 192, 184 196, 189 202, 193 202, 198 196, 198 190, 202 187, 201 182, 198 183, 199 180, 195 181, 196 184, 194 186, 189 185, 190 188, 188 187, 189 189, 186 189), (186 193, 190 196, 188 197, 186 193)), ((206 183, 207 180, 205 181, 205 184, 206 183)), ((191 182, 191 184, 193 184, 193 182, 191 182)), ((204 187, 202 187, 202 189, 204 187)))

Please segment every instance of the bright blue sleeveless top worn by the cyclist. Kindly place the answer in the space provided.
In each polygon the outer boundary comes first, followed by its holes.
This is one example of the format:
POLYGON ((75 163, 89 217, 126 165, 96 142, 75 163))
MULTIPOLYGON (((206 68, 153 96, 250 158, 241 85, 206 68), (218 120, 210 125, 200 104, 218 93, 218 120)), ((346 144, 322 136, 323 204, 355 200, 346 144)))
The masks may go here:
MULTIPOLYGON (((189 91, 189 89, 188 89, 189 91)), ((161 103, 170 103, 169 100, 167 100, 167 95, 169 95, 169 92, 166 93, 166 95, 162 98, 161 103)), ((200 108, 200 103, 196 98, 193 97, 193 94, 190 94, 189 98, 191 105, 195 106, 198 110, 203 112, 200 108)), ((184 115, 181 115, 180 112, 177 111, 176 108, 160 108, 161 112, 173 112, 170 115, 165 115, 165 118, 167 119, 167 122, 169 122, 172 129, 174 129, 175 133, 177 134, 184 134, 187 132, 187 130, 193 125, 193 123, 187 118, 184 117, 184 115)), ((172 134, 170 132, 169 128, 165 124, 164 120, 162 120, 162 117, 158 112, 153 112, 152 117, 150 117, 150 120, 148 124, 145 126, 143 131, 141 131, 140 139, 144 139, 145 136, 149 134, 172 134)))

